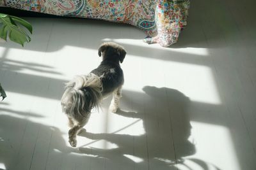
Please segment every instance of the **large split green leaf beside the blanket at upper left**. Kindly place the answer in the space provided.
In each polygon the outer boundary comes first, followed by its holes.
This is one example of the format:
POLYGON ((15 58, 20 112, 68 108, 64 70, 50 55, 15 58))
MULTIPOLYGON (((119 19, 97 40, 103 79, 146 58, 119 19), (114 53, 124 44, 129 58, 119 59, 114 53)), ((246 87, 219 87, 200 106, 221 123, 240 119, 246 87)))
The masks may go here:
POLYGON ((0 13, 0 22, 0 38, 6 40, 7 36, 9 36, 11 41, 19 43, 22 46, 24 46, 24 43, 31 41, 27 32, 19 26, 19 24, 24 26, 30 33, 32 33, 32 26, 26 20, 0 13))

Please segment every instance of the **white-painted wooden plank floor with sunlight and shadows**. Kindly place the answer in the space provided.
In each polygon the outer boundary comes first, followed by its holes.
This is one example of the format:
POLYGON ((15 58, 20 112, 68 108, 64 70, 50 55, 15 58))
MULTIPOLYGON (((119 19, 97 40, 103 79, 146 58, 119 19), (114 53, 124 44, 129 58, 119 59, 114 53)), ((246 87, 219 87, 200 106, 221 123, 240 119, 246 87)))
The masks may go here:
POLYGON ((170 48, 135 27, 27 18, 24 48, 0 42, 0 169, 256 169, 255 3, 193 1, 170 48), (67 142, 63 83, 98 66, 100 43, 125 46, 123 97, 93 111, 77 148, 67 142))

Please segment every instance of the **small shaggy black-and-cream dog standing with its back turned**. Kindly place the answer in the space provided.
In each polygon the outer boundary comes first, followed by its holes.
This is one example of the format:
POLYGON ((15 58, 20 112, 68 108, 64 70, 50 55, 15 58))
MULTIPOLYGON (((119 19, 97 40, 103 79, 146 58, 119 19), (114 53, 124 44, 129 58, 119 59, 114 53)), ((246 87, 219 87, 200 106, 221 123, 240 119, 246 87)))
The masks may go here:
POLYGON ((92 108, 97 108, 105 97, 113 94, 110 110, 115 113, 122 97, 124 73, 120 62, 126 55, 124 47, 111 42, 103 43, 98 54, 103 57, 99 67, 68 82, 61 98, 61 107, 70 127, 68 142, 73 147, 76 147, 76 135, 88 122, 92 108))

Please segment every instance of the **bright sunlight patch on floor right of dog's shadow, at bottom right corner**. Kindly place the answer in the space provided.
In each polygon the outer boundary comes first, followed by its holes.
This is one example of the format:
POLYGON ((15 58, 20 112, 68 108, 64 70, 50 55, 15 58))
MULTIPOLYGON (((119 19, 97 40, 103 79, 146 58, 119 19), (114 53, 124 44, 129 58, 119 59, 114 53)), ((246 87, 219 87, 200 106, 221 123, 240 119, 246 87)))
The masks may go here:
POLYGON ((221 165, 220 169, 238 169, 239 161, 236 157, 232 136, 227 127, 194 121, 191 121, 191 125, 196 153, 189 159, 201 159, 204 162, 221 165))

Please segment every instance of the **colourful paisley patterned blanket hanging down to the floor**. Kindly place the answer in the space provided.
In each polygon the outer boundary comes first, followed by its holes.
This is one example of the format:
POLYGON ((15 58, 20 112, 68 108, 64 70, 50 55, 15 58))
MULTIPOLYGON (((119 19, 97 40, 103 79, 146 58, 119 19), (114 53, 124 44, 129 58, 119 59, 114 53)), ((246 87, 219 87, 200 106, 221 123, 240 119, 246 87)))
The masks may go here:
POLYGON ((162 46, 177 42, 187 24, 189 0, 0 0, 0 5, 51 15, 123 22, 157 36, 162 46))

